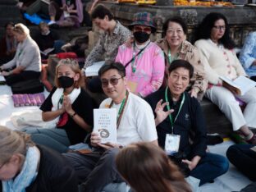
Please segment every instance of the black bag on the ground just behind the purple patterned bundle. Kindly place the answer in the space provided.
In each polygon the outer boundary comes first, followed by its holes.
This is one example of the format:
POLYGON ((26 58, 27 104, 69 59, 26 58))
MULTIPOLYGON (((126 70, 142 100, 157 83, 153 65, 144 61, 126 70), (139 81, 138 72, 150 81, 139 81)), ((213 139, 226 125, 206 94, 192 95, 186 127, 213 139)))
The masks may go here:
POLYGON ((37 94, 43 90, 43 84, 39 79, 25 80, 11 85, 12 94, 37 94))

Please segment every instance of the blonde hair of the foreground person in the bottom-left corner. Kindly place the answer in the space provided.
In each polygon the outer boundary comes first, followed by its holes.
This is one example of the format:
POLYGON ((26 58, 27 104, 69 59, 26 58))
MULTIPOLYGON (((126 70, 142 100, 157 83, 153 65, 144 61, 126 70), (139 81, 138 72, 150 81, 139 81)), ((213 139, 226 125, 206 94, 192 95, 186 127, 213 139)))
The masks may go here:
POLYGON ((0 163, 7 162, 14 154, 25 157, 29 146, 34 146, 30 135, 0 126, 0 163))

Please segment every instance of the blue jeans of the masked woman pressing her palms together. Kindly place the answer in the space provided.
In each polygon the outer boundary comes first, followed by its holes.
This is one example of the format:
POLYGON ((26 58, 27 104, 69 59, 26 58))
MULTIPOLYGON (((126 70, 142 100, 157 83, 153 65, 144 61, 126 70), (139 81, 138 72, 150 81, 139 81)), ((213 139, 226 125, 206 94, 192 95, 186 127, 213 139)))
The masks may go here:
POLYGON ((29 128, 24 131, 31 135, 31 139, 34 143, 48 146, 48 148, 55 149, 59 153, 65 153, 71 145, 67 138, 66 130, 57 128, 29 128))

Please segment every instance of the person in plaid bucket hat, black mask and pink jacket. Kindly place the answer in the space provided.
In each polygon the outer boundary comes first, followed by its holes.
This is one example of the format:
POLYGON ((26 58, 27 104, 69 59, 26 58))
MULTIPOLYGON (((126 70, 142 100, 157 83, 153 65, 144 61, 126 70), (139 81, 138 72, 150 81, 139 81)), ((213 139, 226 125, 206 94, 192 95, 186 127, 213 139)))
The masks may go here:
POLYGON ((127 85, 131 92, 146 97, 160 88, 164 75, 164 57, 161 48, 150 41, 156 31, 149 12, 139 12, 129 25, 135 42, 118 48, 116 62, 126 66, 127 85))

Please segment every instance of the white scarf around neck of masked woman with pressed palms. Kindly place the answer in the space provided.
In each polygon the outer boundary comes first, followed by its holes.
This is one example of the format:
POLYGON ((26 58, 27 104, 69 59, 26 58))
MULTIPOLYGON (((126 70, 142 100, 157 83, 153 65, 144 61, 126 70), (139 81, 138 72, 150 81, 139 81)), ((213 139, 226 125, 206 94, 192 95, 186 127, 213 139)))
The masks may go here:
MULTIPOLYGON (((72 90, 71 94, 68 94, 68 97, 71 99, 71 104, 74 103, 75 99, 78 97, 80 94, 81 89, 80 88, 75 88, 72 90)), ((53 108, 52 112, 57 111, 58 108, 62 107, 62 104, 60 104, 60 99, 63 97, 64 89, 63 88, 57 88, 53 95, 52 95, 52 103, 53 103, 53 108)), ((55 120, 56 123, 59 120, 59 117, 57 117, 55 120)))

